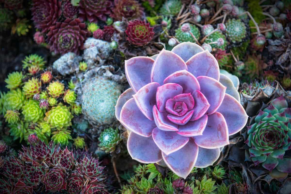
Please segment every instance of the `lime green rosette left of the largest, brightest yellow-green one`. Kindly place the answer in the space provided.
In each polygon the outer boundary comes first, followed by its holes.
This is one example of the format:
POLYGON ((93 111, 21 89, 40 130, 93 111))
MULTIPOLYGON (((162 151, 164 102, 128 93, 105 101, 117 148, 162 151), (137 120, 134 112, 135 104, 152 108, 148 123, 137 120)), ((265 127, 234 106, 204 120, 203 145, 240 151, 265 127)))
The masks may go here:
POLYGON ((22 114, 24 115, 24 120, 27 122, 38 122, 44 117, 44 112, 39 107, 39 102, 32 99, 24 103, 22 114))

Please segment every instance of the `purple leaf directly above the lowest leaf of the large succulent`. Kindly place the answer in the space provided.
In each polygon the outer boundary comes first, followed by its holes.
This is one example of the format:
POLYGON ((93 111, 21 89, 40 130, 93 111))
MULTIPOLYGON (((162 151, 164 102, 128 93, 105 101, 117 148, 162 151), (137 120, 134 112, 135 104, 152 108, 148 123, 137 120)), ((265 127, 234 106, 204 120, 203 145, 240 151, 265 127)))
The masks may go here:
POLYGON ((159 128, 152 130, 152 138, 166 155, 181 149, 189 141, 188 137, 180 136, 175 131, 162 131, 159 128))

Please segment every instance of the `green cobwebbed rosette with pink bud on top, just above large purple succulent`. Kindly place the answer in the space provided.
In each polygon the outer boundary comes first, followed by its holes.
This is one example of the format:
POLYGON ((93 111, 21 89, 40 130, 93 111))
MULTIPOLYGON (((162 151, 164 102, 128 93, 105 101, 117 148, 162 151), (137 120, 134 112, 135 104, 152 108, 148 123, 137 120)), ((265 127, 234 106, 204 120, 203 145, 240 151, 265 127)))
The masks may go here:
POLYGON ((189 24, 189 23, 185 23, 183 24, 180 28, 175 30, 175 37, 180 41, 180 42, 195 42, 194 38, 192 37, 192 35, 190 34, 190 32, 195 36, 195 38, 197 40, 200 39, 200 31, 199 29, 193 25, 193 24, 189 24), (183 29, 183 27, 187 25, 189 26, 190 29, 189 31, 185 31, 183 29))

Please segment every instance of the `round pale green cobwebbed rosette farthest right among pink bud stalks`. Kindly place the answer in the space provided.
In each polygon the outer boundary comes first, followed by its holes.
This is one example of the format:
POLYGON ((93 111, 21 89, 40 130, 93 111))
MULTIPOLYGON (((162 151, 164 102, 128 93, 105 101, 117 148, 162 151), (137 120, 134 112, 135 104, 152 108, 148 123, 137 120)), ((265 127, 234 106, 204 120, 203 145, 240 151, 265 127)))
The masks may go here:
POLYGON ((231 42, 239 43, 246 38, 246 26, 240 19, 229 19, 225 26, 226 36, 231 42))

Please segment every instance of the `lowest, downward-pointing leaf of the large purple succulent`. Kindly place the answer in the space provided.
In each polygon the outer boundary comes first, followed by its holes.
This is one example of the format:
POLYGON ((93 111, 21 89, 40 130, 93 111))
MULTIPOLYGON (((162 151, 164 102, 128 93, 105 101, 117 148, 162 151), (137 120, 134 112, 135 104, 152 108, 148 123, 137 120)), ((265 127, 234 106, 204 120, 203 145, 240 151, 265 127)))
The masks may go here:
POLYGON ((198 146, 192 141, 177 152, 166 155, 162 153, 166 165, 178 176, 186 179, 194 168, 198 156, 198 146))

